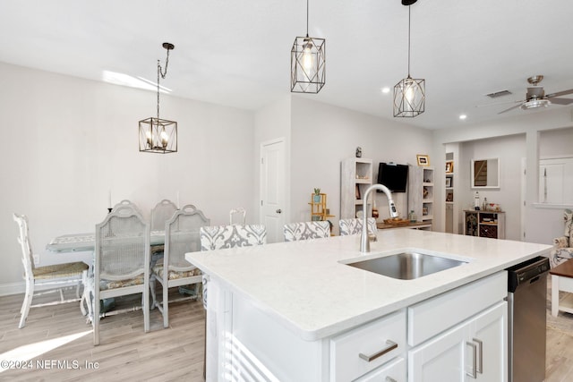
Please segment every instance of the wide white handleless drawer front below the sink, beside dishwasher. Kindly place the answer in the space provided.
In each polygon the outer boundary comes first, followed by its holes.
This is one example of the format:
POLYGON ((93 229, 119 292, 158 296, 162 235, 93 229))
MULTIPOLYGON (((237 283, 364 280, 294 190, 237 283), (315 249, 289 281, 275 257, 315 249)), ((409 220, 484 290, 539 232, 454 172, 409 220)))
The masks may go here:
POLYGON ((508 295, 508 273, 498 272, 408 308, 408 344, 415 346, 508 295))

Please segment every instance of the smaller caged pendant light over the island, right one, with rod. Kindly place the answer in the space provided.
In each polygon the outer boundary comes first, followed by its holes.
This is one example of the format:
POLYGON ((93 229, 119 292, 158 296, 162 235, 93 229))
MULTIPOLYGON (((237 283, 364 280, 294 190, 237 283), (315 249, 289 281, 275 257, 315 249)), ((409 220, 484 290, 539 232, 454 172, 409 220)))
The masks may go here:
POLYGON ((394 87, 394 116, 415 117, 423 113, 426 102, 426 84, 423 79, 410 77, 410 5, 417 0, 402 0, 408 7, 408 76, 394 87))

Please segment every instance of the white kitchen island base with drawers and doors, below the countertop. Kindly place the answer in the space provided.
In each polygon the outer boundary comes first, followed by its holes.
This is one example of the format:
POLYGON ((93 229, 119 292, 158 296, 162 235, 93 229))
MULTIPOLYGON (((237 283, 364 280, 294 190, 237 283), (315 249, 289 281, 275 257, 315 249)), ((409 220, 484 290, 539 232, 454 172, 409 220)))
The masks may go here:
POLYGON ((233 369, 238 379, 285 382, 507 382, 507 283, 500 271, 308 341, 212 277, 207 380, 233 369))

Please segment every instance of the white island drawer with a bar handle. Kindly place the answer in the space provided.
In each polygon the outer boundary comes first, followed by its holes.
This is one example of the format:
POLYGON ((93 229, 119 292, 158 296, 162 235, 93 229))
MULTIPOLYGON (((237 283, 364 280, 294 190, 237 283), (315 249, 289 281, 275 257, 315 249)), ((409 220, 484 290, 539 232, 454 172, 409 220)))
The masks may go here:
POLYGON ((406 310, 333 337, 330 380, 353 380, 400 354, 406 354, 406 310), (382 352, 384 350, 388 351, 382 352), (365 359, 369 357, 370 361, 365 359))

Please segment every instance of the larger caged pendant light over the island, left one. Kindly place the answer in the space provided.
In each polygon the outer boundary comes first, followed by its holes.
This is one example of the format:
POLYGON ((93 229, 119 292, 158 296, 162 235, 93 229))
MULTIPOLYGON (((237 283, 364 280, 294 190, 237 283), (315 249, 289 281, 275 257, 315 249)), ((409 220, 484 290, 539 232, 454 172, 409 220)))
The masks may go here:
POLYGON ((318 93, 325 82, 324 38, 308 37, 308 0, 306 0, 306 36, 295 38, 290 51, 290 91, 318 93))

